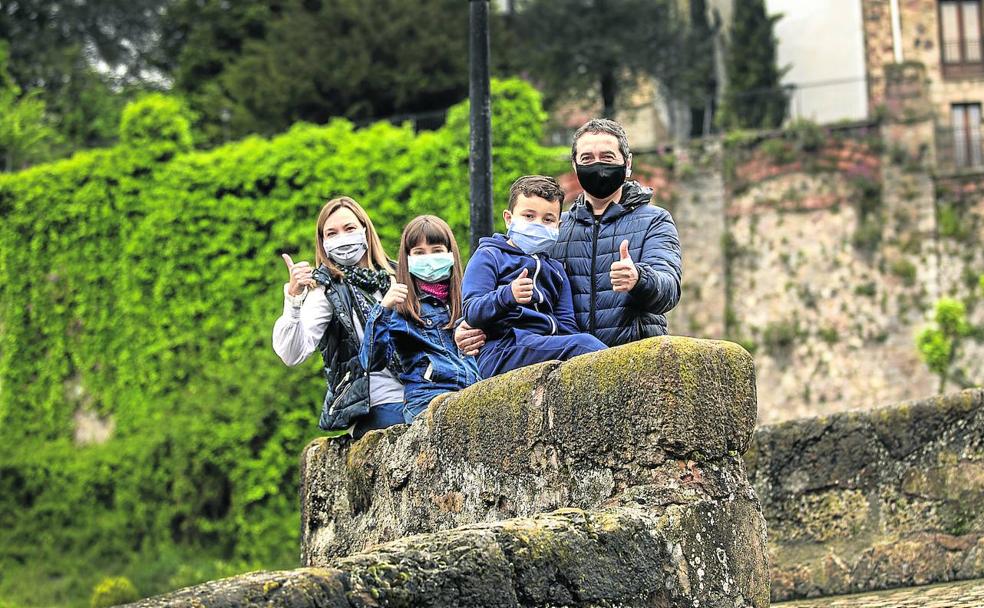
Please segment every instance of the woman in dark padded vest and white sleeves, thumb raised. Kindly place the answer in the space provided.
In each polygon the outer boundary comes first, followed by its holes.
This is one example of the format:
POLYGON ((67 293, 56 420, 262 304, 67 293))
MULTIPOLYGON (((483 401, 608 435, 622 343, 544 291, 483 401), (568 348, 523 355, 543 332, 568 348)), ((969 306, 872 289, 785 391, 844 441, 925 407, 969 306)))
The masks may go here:
POLYGON ((318 268, 283 258, 290 281, 284 285, 284 314, 273 327, 273 349, 289 366, 321 353, 328 392, 318 425, 326 431, 351 428, 358 439, 402 423, 398 362, 372 373, 359 363, 366 316, 389 290, 394 272, 369 216, 347 196, 332 199, 318 214, 318 268))

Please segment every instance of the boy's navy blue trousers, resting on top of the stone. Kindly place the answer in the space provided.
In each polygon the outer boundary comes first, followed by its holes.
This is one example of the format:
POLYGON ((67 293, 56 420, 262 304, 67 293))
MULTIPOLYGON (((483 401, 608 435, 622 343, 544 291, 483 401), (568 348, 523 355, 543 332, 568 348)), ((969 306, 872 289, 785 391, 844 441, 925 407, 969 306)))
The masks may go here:
POLYGON ((514 329, 482 347, 478 352, 478 371, 482 378, 491 378, 534 363, 567 361, 606 348, 604 342, 591 334, 541 336, 514 329))

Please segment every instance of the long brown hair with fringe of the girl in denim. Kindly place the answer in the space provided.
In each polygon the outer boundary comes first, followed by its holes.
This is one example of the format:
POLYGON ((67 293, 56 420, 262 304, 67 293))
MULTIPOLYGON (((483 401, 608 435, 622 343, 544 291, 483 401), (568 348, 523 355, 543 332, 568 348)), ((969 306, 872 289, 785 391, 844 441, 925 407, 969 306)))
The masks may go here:
MULTIPOLYGON (((454 324, 461 318, 461 253, 458 251, 458 243, 454 240, 454 233, 451 227, 441 218, 434 215, 421 215, 410 220, 407 227, 403 229, 403 236, 400 237, 400 253, 396 258, 396 282, 403 283, 407 287, 414 286, 414 276, 410 274, 407 258, 410 250, 417 246, 421 241, 428 245, 444 245, 451 252, 454 258, 454 266, 451 268, 451 276, 448 279, 450 289, 448 290, 448 308, 451 311, 451 319, 444 329, 452 329, 454 324)), ((420 318, 420 299, 417 297, 416 289, 407 289, 407 299, 400 304, 399 311, 406 319, 413 319, 417 324, 422 325, 420 318)))

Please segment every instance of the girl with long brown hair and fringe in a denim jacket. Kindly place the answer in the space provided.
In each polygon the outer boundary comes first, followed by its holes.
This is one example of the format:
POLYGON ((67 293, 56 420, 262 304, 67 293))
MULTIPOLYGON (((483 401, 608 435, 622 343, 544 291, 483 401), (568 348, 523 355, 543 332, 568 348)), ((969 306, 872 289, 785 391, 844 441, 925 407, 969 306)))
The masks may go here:
POLYGON ((407 423, 434 397, 481 379, 475 359, 454 344, 460 318, 461 256, 454 234, 441 218, 417 217, 403 229, 396 282, 369 313, 360 354, 362 365, 376 370, 395 353, 407 423))

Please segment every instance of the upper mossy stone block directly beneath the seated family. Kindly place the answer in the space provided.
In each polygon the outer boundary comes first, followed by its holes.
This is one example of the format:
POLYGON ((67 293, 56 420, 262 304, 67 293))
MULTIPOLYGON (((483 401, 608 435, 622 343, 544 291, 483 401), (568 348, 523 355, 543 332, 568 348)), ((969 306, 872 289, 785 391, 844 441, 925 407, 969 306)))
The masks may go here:
POLYGON ((747 487, 751 356, 660 337, 438 397, 410 427, 301 459, 306 565, 419 532, 559 508, 716 501, 747 487))

